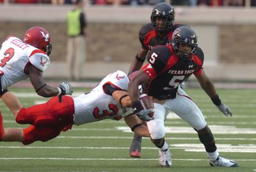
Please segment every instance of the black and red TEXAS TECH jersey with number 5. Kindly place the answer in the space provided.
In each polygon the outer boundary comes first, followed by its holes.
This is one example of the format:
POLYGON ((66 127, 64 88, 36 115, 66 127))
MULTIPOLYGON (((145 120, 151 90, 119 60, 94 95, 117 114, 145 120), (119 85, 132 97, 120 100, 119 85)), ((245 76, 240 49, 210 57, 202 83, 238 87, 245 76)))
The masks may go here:
POLYGON ((150 81, 143 84, 143 92, 159 99, 175 98, 182 81, 192 74, 201 74, 204 53, 198 47, 196 54, 184 61, 174 54, 170 45, 160 45, 150 51, 148 62, 142 69, 150 81))

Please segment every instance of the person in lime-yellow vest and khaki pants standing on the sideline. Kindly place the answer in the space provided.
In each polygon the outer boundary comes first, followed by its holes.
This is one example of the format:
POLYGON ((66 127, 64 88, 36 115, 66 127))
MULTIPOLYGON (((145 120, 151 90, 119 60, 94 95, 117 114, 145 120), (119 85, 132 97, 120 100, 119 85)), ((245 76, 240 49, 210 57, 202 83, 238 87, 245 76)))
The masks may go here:
POLYGON ((69 79, 79 81, 86 59, 86 19, 83 0, 67 13, 67 69, 69 79))

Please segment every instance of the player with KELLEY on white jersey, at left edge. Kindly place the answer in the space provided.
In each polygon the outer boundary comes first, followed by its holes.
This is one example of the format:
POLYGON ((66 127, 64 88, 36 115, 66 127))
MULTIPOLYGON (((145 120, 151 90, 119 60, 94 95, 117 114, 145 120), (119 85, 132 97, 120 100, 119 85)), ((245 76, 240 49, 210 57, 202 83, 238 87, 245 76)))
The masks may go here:
POLYGON ((51 50, 49 33, 43 27, 38 26, 28 29, 23 40, 15 36, 8 36, 2 43, 0 49, 0 98, 13 114, 22 107, 19 99, 7 90, 16 82, 29 78, 36 93, 42 97, 72 94, 72 88, 67 82, 54 88, 46 84, 42 78, 43 72, 50 65, 51 50))

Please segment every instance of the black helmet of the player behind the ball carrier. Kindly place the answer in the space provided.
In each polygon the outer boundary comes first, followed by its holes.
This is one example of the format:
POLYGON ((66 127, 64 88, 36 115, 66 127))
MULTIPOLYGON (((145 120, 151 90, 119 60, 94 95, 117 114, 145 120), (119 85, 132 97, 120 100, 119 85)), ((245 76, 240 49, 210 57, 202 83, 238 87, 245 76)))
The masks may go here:
POLYGON ((158 3, 151 13, 151 24, 157 31, 169 31, 174 24, 174 8, 168 3, 158 3), (157 19, 162 19, 163 23, 157 23, 157 19))

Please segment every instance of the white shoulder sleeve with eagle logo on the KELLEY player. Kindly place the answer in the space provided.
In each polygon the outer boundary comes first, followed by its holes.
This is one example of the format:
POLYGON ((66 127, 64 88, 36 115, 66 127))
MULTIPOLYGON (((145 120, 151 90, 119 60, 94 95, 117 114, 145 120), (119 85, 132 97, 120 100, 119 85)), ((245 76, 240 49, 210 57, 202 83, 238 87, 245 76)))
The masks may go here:
POLYGON ((38 70, 44 72, 50 65, 50 58, 45 54, 44 51, 36 49, 35 51, 31 52, 29 62, 38 70))

